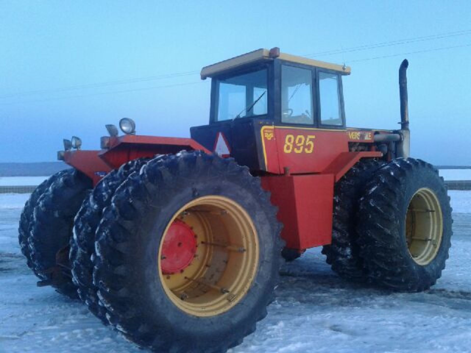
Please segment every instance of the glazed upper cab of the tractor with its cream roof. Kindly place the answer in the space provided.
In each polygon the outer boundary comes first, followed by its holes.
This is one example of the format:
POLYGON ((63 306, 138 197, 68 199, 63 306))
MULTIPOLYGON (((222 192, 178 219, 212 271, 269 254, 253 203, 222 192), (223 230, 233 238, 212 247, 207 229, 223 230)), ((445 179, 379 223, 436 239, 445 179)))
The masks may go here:
POLYGON ((258 118, 343 128, 341 76, 350 68, 259 49, 204 67, 212 79, 210 124, 258 118))

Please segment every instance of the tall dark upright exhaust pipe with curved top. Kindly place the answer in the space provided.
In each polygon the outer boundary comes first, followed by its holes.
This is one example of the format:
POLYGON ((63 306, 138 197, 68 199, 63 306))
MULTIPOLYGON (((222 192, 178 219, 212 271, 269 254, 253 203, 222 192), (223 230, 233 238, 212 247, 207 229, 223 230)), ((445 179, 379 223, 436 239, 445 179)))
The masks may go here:
POLYGON ((407 67, 409 62, 404 59, 399 67, 399 99, 401 103, 401 129, 402 141, 396 144, 396 156, 407 158, 410 155, 409 109, 407 105, 407 67))

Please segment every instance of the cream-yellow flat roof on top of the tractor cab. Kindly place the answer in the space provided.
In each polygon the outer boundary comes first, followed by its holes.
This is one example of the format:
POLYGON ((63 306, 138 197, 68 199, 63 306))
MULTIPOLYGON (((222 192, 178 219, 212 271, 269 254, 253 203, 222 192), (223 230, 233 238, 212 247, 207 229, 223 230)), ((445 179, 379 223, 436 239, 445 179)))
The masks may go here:
POLYGON ((351 72, 351 69, 349 66, 330 64, 324 61, 313 60, 313 59, 309 59, 302 56, 295 56, 291 54, 280 53, 279 50, 280 50, 279 48, 272 48, 270 50, 258 49, 258 50, 251 51, 250 53, 235 56, 231 59, 227 59, 216 64, 205 66, 203 67, 203 69, 201 69, 201 79, 205 80, 208 77, 217 76, 220 73, 234 70, 243 65, 253 64, 253 63, 263 62, 263 61, 270 61, 275 58, 288 61, 291 63, 304 64, 304 65, 309 65, 309 66, 314 66, 314 67, 320 67, 323 69, 329 69, 329 70, 340 72, 343 75, 349 75, 351 72))

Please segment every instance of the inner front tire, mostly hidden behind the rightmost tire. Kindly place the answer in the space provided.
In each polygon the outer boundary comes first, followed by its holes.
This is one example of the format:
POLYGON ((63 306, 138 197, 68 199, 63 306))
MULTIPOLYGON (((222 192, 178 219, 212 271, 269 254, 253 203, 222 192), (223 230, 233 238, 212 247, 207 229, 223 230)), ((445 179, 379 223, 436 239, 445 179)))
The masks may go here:
POLYGON ((360 160, 335 185, 332 243, 324 246, 322 253, 332 270, 347 280, 361 282, 366 279, 357 246, 358 200, 366 182, 382 164, 379 160, 360 160))

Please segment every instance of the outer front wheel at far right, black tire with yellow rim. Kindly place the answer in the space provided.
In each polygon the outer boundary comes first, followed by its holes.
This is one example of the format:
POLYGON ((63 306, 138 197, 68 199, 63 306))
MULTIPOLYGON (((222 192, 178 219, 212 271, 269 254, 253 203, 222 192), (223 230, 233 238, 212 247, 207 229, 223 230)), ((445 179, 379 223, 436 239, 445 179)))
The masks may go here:
POLYGON ((392 160, 374 173, 360 200, 357 225, 372 282, 408 292, 435 284, 451 246, 449 200, 443 178, 423 160, 392 160))

